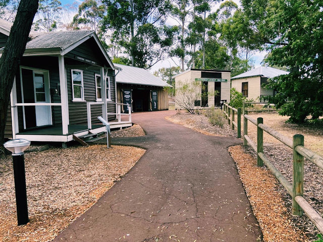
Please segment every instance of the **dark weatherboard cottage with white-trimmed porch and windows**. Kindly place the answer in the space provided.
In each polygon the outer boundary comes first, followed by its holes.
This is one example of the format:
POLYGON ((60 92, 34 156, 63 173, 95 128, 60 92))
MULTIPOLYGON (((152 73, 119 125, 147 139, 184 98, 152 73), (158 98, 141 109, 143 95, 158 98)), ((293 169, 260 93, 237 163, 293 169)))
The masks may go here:
MULTIPOLYGON (((10 28, 11 23, 0 21, 0 43, 10 28)), ((95 32, 31 32, 10 105, 6 138, 65 146, 75 137, 105 131, 97 117, 110 122, 118 117, 115 67, 95 32)))

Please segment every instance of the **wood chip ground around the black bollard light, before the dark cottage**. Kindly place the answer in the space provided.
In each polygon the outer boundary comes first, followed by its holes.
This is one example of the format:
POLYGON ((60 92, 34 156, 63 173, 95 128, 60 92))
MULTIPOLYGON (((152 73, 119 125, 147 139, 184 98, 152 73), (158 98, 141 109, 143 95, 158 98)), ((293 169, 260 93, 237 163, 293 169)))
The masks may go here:
POLYGON ((30 222, 22 226, 17 226, 12 159, 0 160, 0 240, 52 240, 144 153, 134 147, 93 145, 25 154, 30 222))

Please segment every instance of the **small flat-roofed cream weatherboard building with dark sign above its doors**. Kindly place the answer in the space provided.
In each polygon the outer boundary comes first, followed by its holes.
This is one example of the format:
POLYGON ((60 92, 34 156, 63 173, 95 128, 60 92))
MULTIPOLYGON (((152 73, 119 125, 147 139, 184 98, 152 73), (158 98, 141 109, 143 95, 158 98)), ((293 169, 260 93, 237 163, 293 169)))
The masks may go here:
POLYGON ((175 109, 183 109, 187 102, 194 109, 220 107, 224 100, 230 102, 230 74, 229 70, 188 69, 175 75, 175 109), (184 85, 192 91, 181 91, 184 85), (218 91, 216 96, 210 94, 214 91, 218 91))

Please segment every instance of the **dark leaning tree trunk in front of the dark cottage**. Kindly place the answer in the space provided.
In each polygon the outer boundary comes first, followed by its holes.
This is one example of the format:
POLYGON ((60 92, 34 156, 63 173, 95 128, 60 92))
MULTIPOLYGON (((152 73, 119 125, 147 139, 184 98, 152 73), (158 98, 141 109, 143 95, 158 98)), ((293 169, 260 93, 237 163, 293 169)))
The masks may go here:
POLYGON ((25 52, 38 0, 21 0, 14 24, 0 59, 0 144, 3 146, 10 92, 20 59, 25 52))

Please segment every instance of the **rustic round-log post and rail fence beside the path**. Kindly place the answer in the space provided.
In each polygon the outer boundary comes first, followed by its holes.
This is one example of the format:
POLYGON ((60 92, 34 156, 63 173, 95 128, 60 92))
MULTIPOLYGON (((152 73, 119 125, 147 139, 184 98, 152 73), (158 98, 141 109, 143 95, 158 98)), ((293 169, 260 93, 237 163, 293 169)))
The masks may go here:
MULTIPOLYGON (((304 175, 304 157, 317 167, 323 170, 323 157, 304 147, 304 136, 295 134, 290 139, 275 129, 263 124, 262 118, 253 119, 248 115, 248 110, 243 109, 243 145, 250 144, 252 149, 257 153, 257 165, 265 166, 270 169, 277 180, 285 187, 289 195, 292 197, 292 213, 293 215, 302 216, 303 212, 314 223, 320 233, 323 233, 323 218, 315 211, 315 209, 303 197, 303 175, 304 175), (257 142, 254 142, 248 136, 248 121, 257 126, 257 142), (284 175, 274 166, 273 163, 263 154, 263 131, 275 137, 286 146, 293 150, 293 181, 292 184, 284 177, 284 175)), ((241 137, 241 109, 235 109, 224 103, 224 113, 228 119, 228 123, 232 124, 232 129, 237 127, 238 137, 241 137), (235 113, 237 114, 237 122, 235 122, 235 113)))

